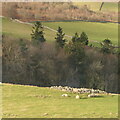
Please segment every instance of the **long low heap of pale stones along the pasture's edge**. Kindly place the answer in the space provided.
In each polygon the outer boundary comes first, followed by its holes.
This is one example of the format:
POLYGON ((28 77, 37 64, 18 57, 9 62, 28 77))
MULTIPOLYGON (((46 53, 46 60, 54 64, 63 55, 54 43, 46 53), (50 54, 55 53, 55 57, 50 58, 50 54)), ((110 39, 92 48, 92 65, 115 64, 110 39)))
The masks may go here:
POLYGON ((100 93, 100 94, 105 94, 105 91, 102 90, 95 90, 95 89, 88 89, 88 88, 72 88, 72 87, 68 87, 68 86, 51 86, 50 89, 58 89, 61 91, 65 91, 65 92, 72 92, 72 93, 78 93, 78 94, 83 94, 83 93, 100 93))

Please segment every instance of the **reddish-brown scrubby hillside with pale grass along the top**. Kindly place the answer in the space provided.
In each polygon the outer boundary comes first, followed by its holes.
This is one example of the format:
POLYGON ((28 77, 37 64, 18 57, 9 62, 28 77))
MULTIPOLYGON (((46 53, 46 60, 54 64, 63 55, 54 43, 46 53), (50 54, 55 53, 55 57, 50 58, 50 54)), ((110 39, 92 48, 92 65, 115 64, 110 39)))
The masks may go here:
POLYGON ((94 20, 118 21, 117 3, 105 3, 102 11, 98 11, 101 3, 97 2, 26 2, 3 3, 2 15, 22 21, 33 20, 94 20))

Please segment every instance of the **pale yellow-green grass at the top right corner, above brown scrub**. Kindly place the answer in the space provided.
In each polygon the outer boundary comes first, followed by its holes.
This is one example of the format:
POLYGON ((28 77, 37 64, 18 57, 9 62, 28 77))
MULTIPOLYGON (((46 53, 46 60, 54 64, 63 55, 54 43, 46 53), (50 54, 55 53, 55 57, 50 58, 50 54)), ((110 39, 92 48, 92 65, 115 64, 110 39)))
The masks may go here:
MULTIPOLYGON (((79 7, 87 5, 90 10, 99 11, 102 2, 74 2, 74 5, 79 7)), ((102 8, 103 12, 117 12, 118 3, 117 2, 105 2, 102 8)))

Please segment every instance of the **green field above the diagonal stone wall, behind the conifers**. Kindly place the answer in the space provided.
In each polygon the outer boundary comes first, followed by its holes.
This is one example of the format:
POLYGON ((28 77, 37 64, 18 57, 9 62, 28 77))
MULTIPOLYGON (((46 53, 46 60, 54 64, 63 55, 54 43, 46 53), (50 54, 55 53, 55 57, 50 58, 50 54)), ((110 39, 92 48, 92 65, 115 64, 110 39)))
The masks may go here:
POLYGON ((115 23, 93 23, 93 22, 50 22, 44 25, 57 29, 61 26, 67 35, 73 36, 75 32, 86 32, 89 40, 101 42, 106 38, 118 44, 118 24, 115 23))

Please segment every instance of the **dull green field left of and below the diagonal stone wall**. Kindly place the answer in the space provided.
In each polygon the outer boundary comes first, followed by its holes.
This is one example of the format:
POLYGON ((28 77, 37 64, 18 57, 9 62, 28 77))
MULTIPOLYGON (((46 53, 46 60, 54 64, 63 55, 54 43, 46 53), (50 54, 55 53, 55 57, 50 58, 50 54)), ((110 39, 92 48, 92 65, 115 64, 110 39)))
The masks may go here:
MULTIPOLYGON (((2 18, 3 34, 11 35, 11 36, 14 36, 15 38, 26 38, 30 40, 31 31, 32 31, 31 25, 18 23, 8 18, 2 18)), ((52 36, 55 36, 55 33, 48 29, 45 29, 45 37, 48 41, 51 41, 53 39, 52 36)))

